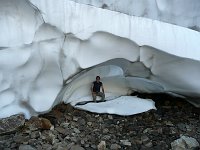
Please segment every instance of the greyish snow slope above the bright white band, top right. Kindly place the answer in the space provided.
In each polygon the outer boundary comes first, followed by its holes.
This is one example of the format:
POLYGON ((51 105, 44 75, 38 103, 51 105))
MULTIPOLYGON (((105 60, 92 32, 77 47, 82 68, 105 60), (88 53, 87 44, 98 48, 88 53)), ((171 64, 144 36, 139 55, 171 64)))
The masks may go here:
POLYGON ((200 31, 199 0, 72 0, 200 31))

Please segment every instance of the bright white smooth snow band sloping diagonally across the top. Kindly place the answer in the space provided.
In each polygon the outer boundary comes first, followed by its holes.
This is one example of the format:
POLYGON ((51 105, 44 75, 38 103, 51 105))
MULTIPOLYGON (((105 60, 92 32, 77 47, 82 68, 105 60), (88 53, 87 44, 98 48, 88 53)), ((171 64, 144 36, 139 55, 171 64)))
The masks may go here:
POLYGON ((56 5, 54 0, 31 2, 44 12, 45 22, 81 40, 102 31, 130 39, 139 46, 148 45, 176 56, 200 60, 199 32, 68 0, 58 0, 56 5))

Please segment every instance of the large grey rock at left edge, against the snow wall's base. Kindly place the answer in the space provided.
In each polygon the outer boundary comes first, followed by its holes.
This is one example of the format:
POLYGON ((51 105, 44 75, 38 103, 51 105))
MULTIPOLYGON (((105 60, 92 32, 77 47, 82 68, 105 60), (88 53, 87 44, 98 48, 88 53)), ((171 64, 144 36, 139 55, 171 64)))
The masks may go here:
POLYGON ((15 132, 24 123, 25 117, 22 114, 0 119, 0 135, 15 132))

